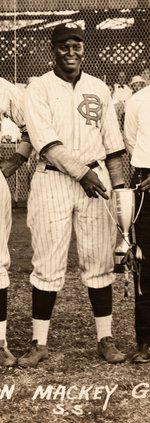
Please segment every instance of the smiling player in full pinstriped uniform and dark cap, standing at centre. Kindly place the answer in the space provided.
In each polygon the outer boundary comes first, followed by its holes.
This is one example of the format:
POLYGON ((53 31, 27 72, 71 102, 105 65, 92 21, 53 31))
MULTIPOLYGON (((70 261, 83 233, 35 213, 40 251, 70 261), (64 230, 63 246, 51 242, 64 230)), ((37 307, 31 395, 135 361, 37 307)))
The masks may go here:
POLYGON ((34 250, 33 344, 18 364, 36 366, 48 357, 48 329, 57 291, 64 284, 72 224, 98 352, 110 363, 122 362, 125 355, 111 334, 116 230, 104 199, 111 208, 111 180, 114 187, 124 184, 124 144, 108 87, 81 70, 84 31, 75 23, 59 24, 52 48, 54 70, 31 82, 25 92, 25 121, 40 161, 28 202, 34 250))

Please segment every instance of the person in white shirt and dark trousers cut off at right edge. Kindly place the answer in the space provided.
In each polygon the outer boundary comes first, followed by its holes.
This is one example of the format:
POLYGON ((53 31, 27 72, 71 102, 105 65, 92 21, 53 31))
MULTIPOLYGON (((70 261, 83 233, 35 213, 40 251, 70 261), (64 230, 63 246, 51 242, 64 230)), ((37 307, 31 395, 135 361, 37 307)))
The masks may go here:
MULTIPOLYGON (((135 168, 133 177, 144 192, 144 201, 135 223, 137 244, 143 259, 141 262, 140 289, 139 278, 134 274, 135 287, 135 333, 137 349, 133 355, 134 363, 150 361, 150 86, 139 90, 127 102, 125 114, 125 142, 135 168)), ((141 195, 136 193, 139 208, 141 195)))

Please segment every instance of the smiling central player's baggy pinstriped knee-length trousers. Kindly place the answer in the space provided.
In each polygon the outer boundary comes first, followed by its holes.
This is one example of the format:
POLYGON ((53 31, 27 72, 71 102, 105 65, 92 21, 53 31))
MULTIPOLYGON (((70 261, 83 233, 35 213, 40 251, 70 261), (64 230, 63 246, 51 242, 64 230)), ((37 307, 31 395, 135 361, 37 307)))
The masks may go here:
MULTIPOLYGON (((110 189, 108 171, 97 168, 110 189)), ((116 229, 106 213, 102 197, 89 199, 78 182, 55 171, 36 171, 28 200, 28 226, 32 232, 31 284, 58 291, 65 279, 72 221, 77 236, 81 278, 99 288, 114 280, 112 251, 116 229)))

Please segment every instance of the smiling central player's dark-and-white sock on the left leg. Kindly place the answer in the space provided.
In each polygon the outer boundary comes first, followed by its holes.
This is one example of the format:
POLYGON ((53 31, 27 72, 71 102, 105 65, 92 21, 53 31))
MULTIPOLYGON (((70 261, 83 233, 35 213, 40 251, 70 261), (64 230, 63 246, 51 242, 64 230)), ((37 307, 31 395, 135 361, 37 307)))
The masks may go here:
POLYGON ((39 345, 47 344, 48 330, 57 292, 41 291, 33 287, 32 291, 32 323, 33 340, 39 345))

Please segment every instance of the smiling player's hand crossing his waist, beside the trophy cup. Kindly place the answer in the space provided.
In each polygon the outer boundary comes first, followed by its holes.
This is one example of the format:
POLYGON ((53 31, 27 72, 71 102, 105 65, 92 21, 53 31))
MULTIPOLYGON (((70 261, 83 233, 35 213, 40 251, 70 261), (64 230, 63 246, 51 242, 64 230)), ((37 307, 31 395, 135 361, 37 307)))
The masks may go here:
POLYGON ((80 184, 88 197, 98 198, 98 196, 101 195, 105 200, 108 200, 109 197, 106 194, 106 188, 93 170, 88 170, 80 180, 80 184))

